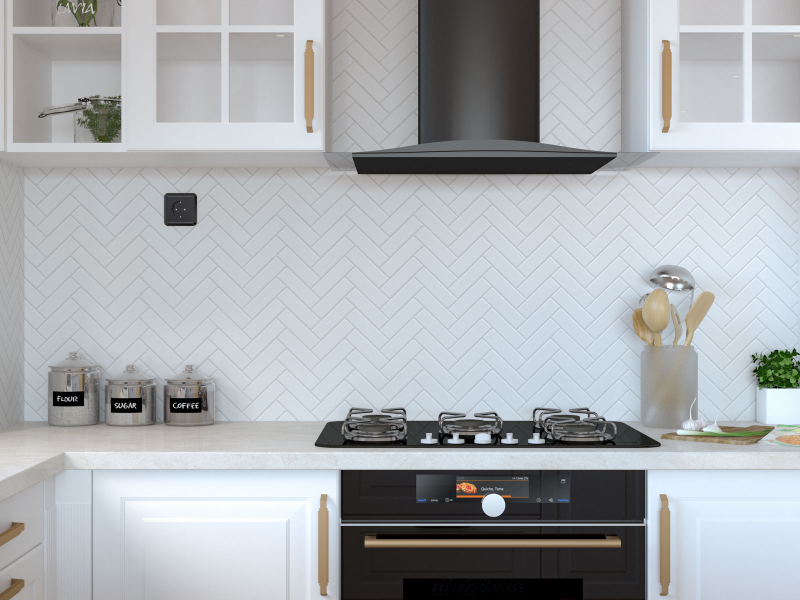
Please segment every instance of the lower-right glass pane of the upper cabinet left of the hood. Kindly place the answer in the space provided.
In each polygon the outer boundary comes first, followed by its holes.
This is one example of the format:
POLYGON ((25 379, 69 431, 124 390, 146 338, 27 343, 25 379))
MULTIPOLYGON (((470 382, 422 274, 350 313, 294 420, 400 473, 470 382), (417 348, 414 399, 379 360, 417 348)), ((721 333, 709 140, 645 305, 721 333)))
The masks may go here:
POLYGON ((294 122, 294 34, 230 34, 230 122, 294 122))

